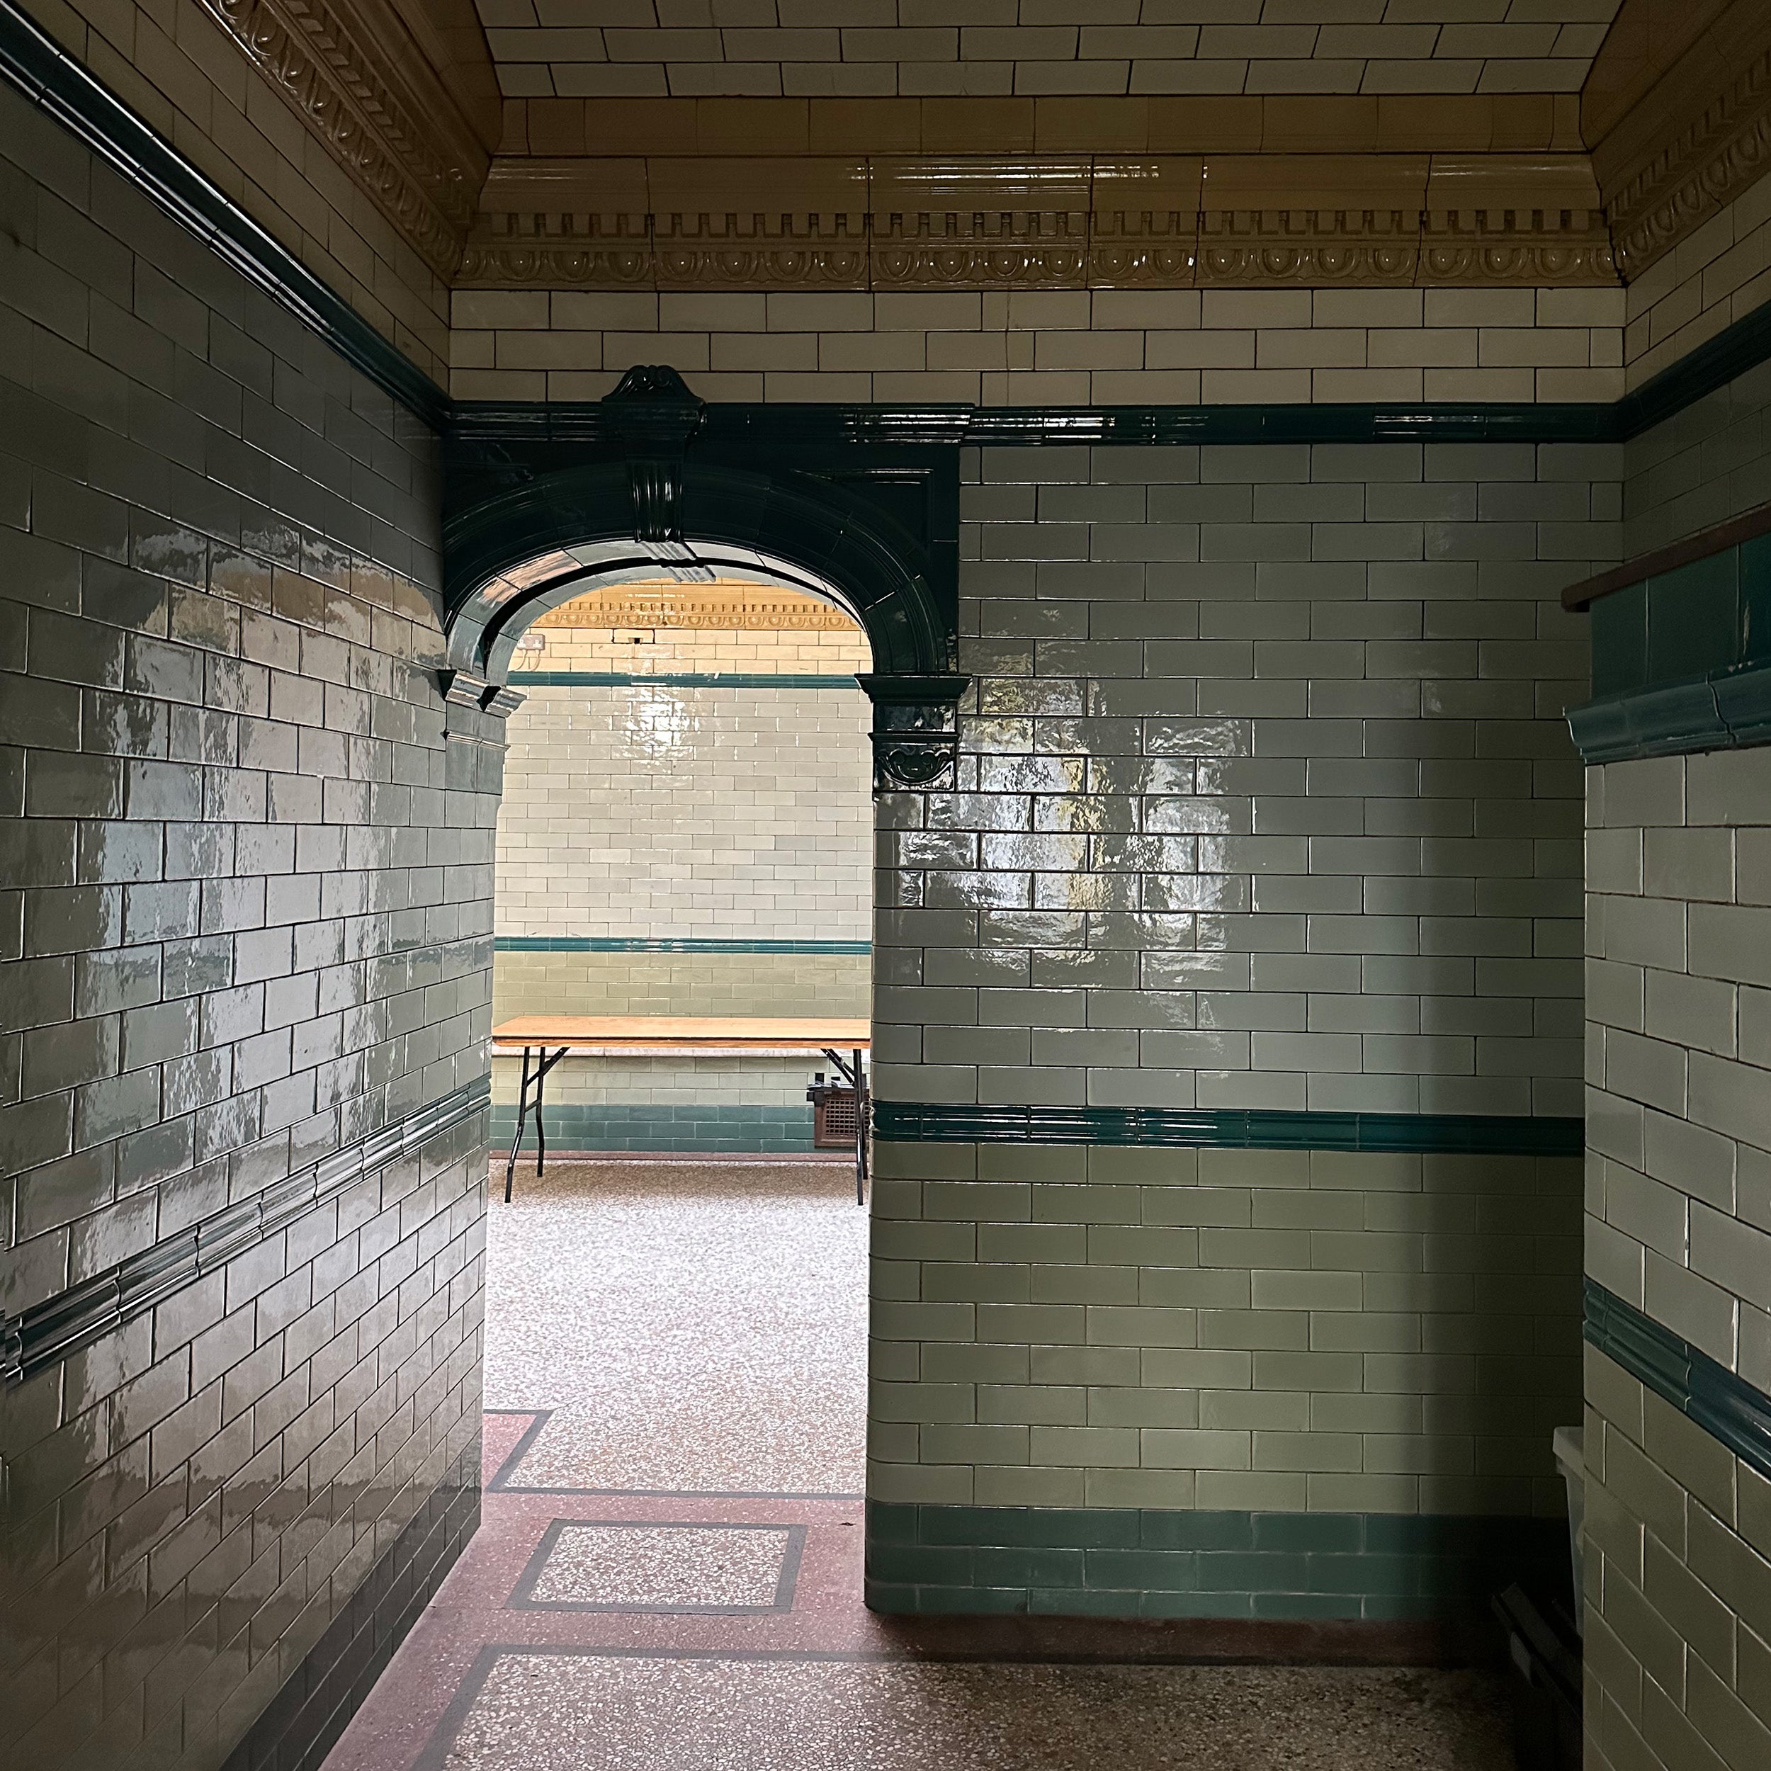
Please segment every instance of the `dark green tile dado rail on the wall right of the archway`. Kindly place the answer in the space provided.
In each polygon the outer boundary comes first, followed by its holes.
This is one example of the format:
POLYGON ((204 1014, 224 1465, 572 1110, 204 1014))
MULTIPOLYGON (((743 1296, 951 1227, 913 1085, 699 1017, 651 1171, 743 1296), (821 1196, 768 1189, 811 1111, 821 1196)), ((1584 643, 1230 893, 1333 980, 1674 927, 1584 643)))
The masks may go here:
POLYGON ((873 1133, 910 1144, 1146 1144, 1578 1156, 1585 1121, 1514 1114, 1176 1107, 955 1107, 875 1102, 873 1133))

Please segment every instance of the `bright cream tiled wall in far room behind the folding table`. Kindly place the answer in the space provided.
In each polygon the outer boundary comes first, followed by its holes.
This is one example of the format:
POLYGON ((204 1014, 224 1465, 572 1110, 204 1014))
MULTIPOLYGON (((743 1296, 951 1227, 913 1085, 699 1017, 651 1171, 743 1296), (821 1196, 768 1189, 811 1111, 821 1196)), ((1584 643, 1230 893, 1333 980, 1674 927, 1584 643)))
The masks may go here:
MULTIPOLYGON (((870 710, 848 678, 870 666, 866 638, 538 627, 528 646, 498 825, 498 933, 526 949, 498 955, 498 1018, 864 1018, 870 710), (779 685, 558 680, 574 673, 779 685), (751 951, 645 951, 673 940, 751 951), (588 942, 639 951, 584 951, 588 942), (793 951, 818 944, 862 951, 793 951)), ((547 1135, 556 1148, 809 1148, 813 1068, 781 1057, 570 1057, 547 1086, 547 1135)), ((494 1125, 508 1137, 515 1061, 494 1064, 494 1125)))

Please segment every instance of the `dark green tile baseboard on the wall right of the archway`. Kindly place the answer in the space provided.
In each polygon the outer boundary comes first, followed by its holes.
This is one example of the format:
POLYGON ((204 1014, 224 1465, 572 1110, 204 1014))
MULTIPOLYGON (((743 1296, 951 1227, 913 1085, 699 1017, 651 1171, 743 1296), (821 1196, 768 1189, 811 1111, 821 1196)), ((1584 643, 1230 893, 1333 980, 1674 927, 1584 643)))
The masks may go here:
POLYGON ((1514 1580, 1569 1582, 1567 1523, 868 1502, 866 1603, 889 1613, 1410 1620, 1514 1580))

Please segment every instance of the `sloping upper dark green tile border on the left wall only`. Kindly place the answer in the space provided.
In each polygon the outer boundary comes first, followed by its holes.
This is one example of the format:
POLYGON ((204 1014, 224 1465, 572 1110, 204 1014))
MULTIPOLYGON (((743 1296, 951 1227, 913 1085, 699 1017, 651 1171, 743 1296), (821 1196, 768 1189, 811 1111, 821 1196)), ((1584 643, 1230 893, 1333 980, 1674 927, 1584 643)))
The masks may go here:
POLYGON ((448 395, 71 55, 0 0, 0 74, 255 289, 429 425, 448 395))

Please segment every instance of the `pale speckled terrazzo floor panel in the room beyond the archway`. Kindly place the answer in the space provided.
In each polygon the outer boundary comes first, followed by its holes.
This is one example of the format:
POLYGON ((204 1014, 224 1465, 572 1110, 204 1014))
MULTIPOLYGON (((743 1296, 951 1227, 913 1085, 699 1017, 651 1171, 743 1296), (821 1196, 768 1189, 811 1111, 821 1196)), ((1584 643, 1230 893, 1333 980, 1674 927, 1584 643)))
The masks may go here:
POLYGON ((489 1215, 487 1408, 551 1410, 499 1486, 862 1484, 866 1211, 839 1164, 558 1164, 489 1215))

